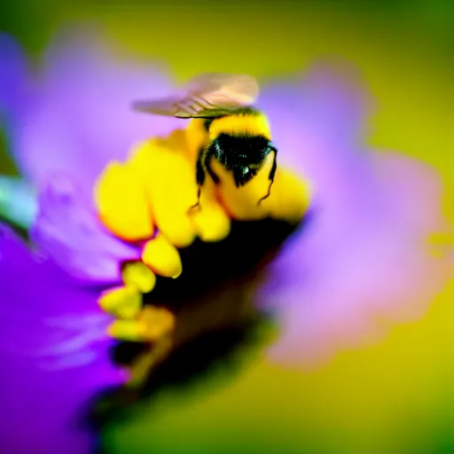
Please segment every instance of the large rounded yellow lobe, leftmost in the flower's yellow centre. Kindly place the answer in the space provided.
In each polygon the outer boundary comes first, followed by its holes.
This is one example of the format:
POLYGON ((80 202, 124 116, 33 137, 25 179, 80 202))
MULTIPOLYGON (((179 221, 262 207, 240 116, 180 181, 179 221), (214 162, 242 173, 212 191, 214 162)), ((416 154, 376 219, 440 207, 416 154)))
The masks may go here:
POLYGON ((127 164, 109 163, 94 191, 98 215, 121 239, 136 241, 153 236, 153 220, 137 174, 127 164))

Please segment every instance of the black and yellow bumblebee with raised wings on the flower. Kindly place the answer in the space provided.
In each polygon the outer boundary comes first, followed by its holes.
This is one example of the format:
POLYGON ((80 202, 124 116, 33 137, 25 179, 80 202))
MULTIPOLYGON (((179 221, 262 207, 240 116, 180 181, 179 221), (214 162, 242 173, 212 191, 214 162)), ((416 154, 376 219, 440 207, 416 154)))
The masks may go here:
POLYGON ((211 167, 217 160, 231 171, 237 187, 244 186, 262 168, 263 162, 273 153, 268 192, 277 170, 278 149, 271 142, 270 126, 262 112, 254 108, 258 97, 258 83, 246 74, 201 74, 194 77, 180 94, 169 98, 133 103, 133 109, 148 114, 200 121, 206 139, 200 146, 195 174, 200 192, 209 175, 215 184, 220 178, 211 167))

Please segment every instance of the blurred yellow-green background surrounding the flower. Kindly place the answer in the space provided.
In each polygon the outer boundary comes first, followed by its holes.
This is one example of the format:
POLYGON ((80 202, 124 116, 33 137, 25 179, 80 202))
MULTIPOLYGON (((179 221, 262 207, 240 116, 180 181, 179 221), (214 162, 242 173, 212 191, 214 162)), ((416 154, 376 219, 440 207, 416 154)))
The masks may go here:
MULTIPOLYGON (((120 49, 159 59, 181 81, 203 71, 294 74, 326 57, 353 63, 375 100, 368 143, 434 166, 445 187, 443 209, 454 220, 449 0, 20 0, 0 6, 0 29, 32 59, 61 28, 78 23, 99 29, 120 49)), ((1 151, 2 173, 14 174, 4 140, 1 151)), ((104 449, 454 452, 452 284, 419 321, 395 325, 379 344, 344 351, 315 371, 286 370, 254 356, 232 376, 221 368, 192 387, 163 391, 128 419, 102 427, 104 449)))

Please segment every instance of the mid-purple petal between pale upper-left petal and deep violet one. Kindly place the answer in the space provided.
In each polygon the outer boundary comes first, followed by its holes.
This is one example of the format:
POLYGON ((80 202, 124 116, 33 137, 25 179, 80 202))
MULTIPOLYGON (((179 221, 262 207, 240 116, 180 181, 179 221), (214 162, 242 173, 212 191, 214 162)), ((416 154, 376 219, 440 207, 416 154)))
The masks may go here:
POLYGON ((38 252, 79 284, 107 285, 121 280, 121 262, 140 254, 105 231, 76 184, 48 175, 39 192, 39 211, 30 232, 38 252))

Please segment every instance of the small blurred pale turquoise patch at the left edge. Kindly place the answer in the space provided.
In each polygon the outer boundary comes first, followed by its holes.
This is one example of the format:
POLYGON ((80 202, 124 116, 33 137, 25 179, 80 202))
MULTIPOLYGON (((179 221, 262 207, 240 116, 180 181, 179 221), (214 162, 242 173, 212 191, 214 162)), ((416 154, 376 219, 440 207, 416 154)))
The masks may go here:
POLYGON ((0 216, 27 230, 37 212, 35 189, 20 178, 0 176, 0 216))

